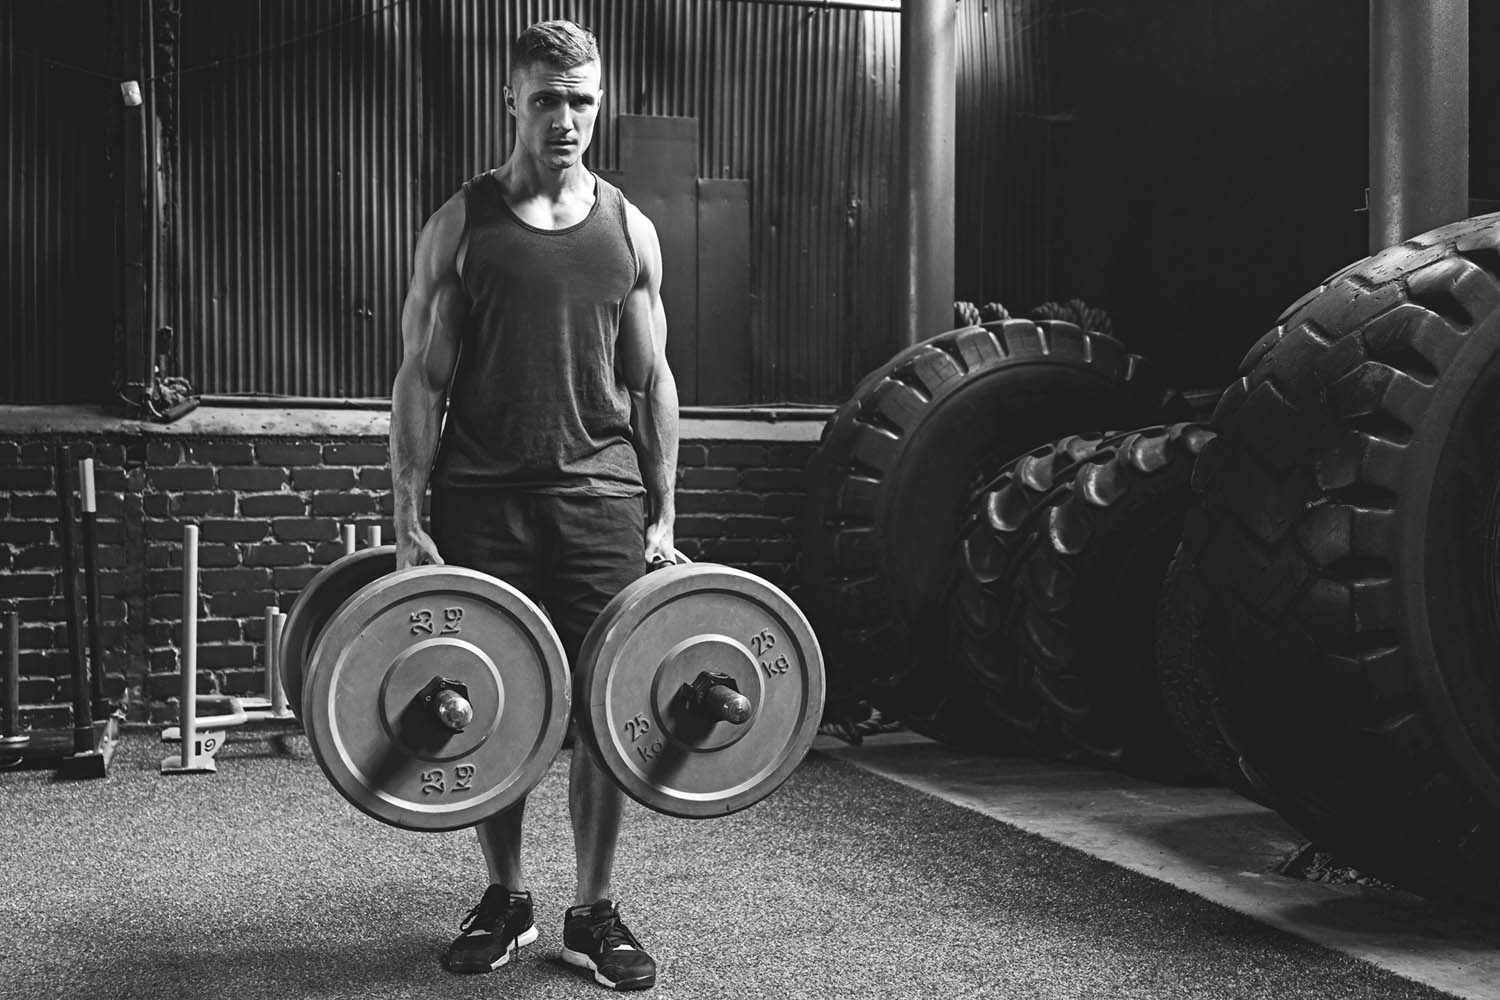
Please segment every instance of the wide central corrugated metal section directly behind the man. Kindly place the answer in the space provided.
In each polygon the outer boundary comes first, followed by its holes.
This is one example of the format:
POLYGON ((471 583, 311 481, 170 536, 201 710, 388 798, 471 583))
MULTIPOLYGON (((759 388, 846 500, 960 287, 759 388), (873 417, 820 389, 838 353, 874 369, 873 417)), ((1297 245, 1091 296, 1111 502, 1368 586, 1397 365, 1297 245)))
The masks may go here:
POLYGON ((700 174, 752 181, 744 402, 838 399, 880 360, 861 345, 890 342, 896 13, 184 0, 183 333, 198 388, 388 393, 417 229, 508 153, 506 48, 550 16, 600 37, 592 165, 616 166, 615 115, 692 115, 700 174))

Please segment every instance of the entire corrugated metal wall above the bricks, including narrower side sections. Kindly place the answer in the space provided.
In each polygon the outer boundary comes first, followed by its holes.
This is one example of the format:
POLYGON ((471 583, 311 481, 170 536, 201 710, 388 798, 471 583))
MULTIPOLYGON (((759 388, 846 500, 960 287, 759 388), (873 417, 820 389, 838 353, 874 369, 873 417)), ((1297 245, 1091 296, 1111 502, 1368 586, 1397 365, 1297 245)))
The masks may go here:
MULTIPOLYGON (((1040 70, 1054 1, 960 1, 963 298, 1020 309, 1046 297, 1050 97, 1040 70)), ((120 192, 106 175, 120 120, 114 6, 0 4, 12 168, 6 400, 105 399, 122 360, 120 192), (28 64, 15 54, 27 45, 92 58, 99 72, 28 64)), ((608 93, 592 165, 618 166, 618 114, 693 115, 700 174, 750 181, 746 402, 837 402, 888 354, 894 12, 753 0, 178 6, 168 135, 182 274, 166 319, 200 391, 388 393, 416 234, 462 180, 508 153, 506 46, 548 16, 600 36, 608 93)))

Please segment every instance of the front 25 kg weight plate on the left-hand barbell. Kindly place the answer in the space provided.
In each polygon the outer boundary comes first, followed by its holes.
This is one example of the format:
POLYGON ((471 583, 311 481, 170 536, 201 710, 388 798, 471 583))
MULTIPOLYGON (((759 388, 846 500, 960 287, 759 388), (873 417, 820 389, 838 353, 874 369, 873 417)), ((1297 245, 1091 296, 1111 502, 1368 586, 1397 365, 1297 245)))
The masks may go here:
POLYGON ((369 583, 308 666, 314 756, 350 802, 393 826, 453 831, 501 813, 542 780, 567 732, 572 682, 552 624, 476 570, 412 567, 369 583), (472 706, 462 732, 438 720, 440 679, 472 706))

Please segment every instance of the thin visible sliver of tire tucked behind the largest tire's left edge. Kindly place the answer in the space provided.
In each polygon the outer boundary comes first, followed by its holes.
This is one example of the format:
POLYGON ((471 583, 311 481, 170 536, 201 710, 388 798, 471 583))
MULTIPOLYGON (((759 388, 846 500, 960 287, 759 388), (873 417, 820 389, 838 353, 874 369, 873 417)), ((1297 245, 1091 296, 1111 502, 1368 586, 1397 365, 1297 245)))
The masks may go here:
POLYGON ((1264 790, 1256 789, 1239 766, 1239 751, 1224 739, 1215 718, 1214 693, 1203 679, 1206 649, 1194 652, 1192 643, 1203 627, 1202 594, 1188 576, 1180 550, 1167 567, 1156 604, 1156 676, 1167 715, 1178 735, 1209 772, 1227 789, 1248 799, 1269 804, 1264 790))

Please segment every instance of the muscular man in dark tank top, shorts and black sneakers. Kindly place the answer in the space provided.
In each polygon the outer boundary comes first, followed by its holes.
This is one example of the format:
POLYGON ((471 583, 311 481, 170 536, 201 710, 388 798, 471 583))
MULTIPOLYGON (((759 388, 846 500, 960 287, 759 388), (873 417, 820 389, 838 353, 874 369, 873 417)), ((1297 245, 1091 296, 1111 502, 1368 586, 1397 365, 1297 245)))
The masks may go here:
MULTIPOLYGON (((398 564, 447 559, 512 583, 548 610, 570 663, 609 598, 670 553, 676 475, 662 247, 582 163, 602 96, 590 31, 546 21, 514 40, 514 148, 423 226, 392 387, 398 564)), ((490 885, 448 946, 452 972, 500 969, 537 939, 524 811, 522 799, 477 828, 490 885)), ((568 813, 578 892, 562 958, 646 990, 656 963, 612 901, 621 793, 582 745, 568 813)))

